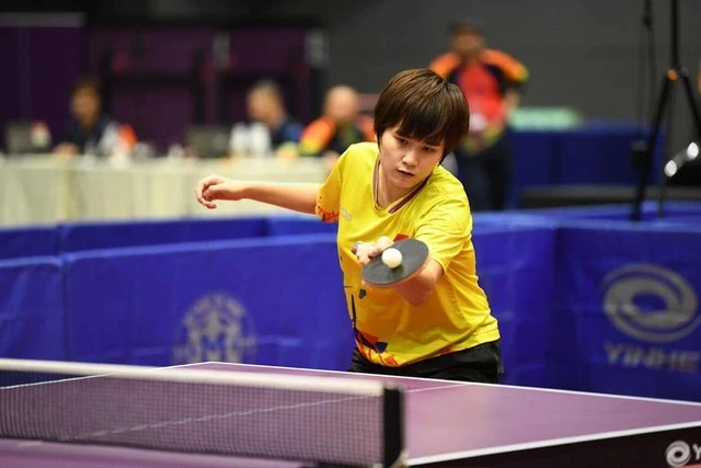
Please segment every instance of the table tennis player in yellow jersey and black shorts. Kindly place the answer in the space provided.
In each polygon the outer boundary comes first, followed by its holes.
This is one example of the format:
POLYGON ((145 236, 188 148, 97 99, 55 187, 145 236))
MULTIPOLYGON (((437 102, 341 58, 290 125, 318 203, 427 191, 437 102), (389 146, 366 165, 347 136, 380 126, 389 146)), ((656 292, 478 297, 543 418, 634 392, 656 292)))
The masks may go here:
POLYGON ((210 175, 197 201, 254 199, 338 222, 338 252, 356 338, 349 370, 498 383, 499 331, 478 284, 472 216, 460 182, 440 165, 464 136, 468 103, 427 69, 394 76, 375 109, 377 142, 350 146, 323 184, 241 182, 210 175), (429 260, 392 287, 365 284, 377 240, 423 241, 429 260), (361 242, 358 244, 358 242, 361 242))

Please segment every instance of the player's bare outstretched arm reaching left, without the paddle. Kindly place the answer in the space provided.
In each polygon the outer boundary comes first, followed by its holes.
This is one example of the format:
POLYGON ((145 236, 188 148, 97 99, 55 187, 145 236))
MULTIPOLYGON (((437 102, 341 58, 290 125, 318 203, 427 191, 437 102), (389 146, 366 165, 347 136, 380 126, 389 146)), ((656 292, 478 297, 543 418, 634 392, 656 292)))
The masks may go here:
POLYGON ((209 175, 195 186, 195 198, 209 209, 217 207, 216 201, 253 199, 314 215, 320 189, 319 183, 249 182, 209 175))

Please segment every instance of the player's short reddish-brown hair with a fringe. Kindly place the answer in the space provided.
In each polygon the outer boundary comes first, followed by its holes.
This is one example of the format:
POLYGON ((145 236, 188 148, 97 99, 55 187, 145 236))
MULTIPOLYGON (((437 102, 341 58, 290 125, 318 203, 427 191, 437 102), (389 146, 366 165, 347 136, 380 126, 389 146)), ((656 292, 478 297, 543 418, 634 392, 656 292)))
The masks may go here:
POLYGON ((399 134, 429 145, 445 144, 444 158, 464 137, 470 124, 468 101, 456 84, 420 68, 397 73, 375 106, 378 141, 399 125, 399 134))

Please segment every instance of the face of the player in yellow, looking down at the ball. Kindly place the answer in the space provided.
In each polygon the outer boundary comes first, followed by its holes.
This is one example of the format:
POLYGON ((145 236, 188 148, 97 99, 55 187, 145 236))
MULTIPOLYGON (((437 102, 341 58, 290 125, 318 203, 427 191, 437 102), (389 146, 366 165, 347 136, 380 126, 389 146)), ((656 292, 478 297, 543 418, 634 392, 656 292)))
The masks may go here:
POLYGON ((387 183, 395 189, 413 189, 440 163, 444 144, 430 145, 388 128, 380 137, 380 164, 387 183))

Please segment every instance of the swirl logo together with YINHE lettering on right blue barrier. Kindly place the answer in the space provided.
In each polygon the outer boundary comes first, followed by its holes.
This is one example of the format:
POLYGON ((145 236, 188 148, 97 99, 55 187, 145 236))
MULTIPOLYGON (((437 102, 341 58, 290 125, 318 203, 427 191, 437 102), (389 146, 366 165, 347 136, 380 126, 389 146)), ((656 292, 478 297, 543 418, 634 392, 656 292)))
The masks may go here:
POLYGON ((660 265, 628 264, 609 272, 602 285, 605 313, 629 339, 602 343, 610 365, 701 372, 701 352, 683 341, 701 324, 698 295, 683 276, 660 265))

